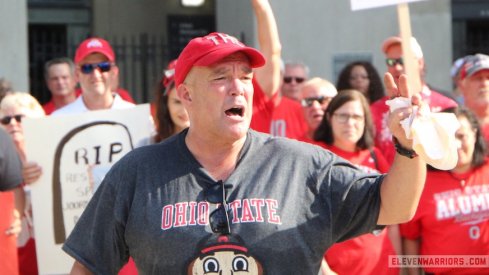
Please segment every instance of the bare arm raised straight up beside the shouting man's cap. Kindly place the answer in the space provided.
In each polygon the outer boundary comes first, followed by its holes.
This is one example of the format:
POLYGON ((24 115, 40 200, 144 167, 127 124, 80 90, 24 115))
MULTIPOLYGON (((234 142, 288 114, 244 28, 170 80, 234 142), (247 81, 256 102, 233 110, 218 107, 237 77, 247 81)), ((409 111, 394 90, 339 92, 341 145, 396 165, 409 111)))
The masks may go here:
POLYGON ((256 69, 255 79, 263 92, 272 97, 280 87, 280 58, 282 45, 278 36, 277 22, 268 0, 251 0, 256 16, 258 43, 265 56, 265 66, 256 69))

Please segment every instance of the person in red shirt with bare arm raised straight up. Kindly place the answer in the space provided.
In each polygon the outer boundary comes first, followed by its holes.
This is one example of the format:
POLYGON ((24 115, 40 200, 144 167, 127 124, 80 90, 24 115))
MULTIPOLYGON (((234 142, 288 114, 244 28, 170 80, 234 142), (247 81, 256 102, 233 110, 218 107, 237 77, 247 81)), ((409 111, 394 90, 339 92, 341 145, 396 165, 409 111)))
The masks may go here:
POLYGON ((298 139, 307 131, 307 124, 300 103, 279 92, 282 46, 272 7, 268 0, 252 0, 251 3, 257 19, 260 50, 267 63, 255 70, 250 127, 273 136, 298 139))

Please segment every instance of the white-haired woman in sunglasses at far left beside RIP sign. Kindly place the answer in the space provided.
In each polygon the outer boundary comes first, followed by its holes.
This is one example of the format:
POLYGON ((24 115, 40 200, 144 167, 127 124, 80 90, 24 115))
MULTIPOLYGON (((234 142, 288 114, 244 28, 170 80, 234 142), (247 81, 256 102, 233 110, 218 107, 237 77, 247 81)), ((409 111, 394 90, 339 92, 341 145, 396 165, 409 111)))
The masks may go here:
MULTIPOLYGON (((26 157, 24 129, 22 120, 25 117, 43 117, 44 110, 39 102, 28 93, 13 92, 7 94, 0 103, 0 122, 2 127, 10 134, 17 152, 23 163, 24 183, 32 183, 30 179, 37 179, 41 173, 37 165, 32 166, 26 157)), ((22 216, 22 231, 17 239, 19 256, 19 274, 37 274, 37 259, 34 241, 34 228, 32 223, 32 208, 29 196, 29 186, 26 191, 26 204, 22 216)))

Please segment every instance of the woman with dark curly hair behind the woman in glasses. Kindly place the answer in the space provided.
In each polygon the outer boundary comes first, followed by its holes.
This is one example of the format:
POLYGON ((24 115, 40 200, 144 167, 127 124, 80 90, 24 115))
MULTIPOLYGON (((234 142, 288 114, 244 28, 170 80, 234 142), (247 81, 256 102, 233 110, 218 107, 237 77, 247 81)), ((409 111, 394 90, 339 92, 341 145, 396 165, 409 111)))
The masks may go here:
POLYGON ((341 70, 336 82, 338 90, 355 89, 373 103, 384 97, 384 86, 377 69, 367 61, 355 61, 341 70))

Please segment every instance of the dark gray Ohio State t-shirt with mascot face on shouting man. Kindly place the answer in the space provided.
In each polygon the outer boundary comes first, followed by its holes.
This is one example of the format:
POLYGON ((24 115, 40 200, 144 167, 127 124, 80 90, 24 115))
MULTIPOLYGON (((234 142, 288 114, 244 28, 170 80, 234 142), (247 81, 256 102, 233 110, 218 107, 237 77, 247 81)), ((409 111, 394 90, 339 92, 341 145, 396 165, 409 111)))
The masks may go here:
POLYGON ((63 249, 96 274, 116 274, 131 256, 140 274, 316 275, 328 247, 376 227, 382 176, 250 130, 224 181, 231 235, 214 234, 206 190, 216 181, 186 133, 116 163, 63 249))

